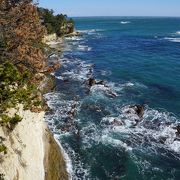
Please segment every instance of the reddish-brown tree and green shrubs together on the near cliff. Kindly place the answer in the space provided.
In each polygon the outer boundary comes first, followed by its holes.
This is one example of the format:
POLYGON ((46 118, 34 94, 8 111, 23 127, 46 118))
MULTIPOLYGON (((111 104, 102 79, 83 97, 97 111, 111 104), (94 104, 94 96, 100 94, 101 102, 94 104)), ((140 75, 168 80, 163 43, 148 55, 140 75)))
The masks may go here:
POLYGON ((31 0, 2 0, 0 27, 0 124, 12 127, 21 118, 7 117, 8 108, 39 105, 35 82, 46 68, 41 48, 46 29, 31 0))

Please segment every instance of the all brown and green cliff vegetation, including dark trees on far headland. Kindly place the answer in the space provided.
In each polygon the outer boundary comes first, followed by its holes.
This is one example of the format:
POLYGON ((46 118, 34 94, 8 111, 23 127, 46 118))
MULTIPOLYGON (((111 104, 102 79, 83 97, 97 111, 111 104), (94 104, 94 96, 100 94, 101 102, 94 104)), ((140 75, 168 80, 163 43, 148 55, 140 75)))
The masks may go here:
MULTIPOLYGON (((38 86, 47 73, 59 68, 56 63, 48 65, 42 39, 47 33, 63 36, 73 30, 72 19, 37 8, 33 0, 0 0, 0 126, 7 132, 22 120, 18 114, 10 117, 9 108, 23 104, 33 112, 43 110, 38 86)), ((0 160, 8 151, 3 141, 0 137, 0 160)))

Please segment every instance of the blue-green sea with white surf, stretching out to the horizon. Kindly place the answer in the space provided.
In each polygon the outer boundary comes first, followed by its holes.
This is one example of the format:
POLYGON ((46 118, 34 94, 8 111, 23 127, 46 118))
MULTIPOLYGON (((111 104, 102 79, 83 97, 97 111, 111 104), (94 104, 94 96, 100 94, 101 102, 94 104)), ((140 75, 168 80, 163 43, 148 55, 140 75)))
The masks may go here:
POLYGON ((180 18, 75 21, 82 37, 65 39, 46 95, 72 179, 180 179, 180 18), (105 85, 87 87, 89 77, 105 85))

